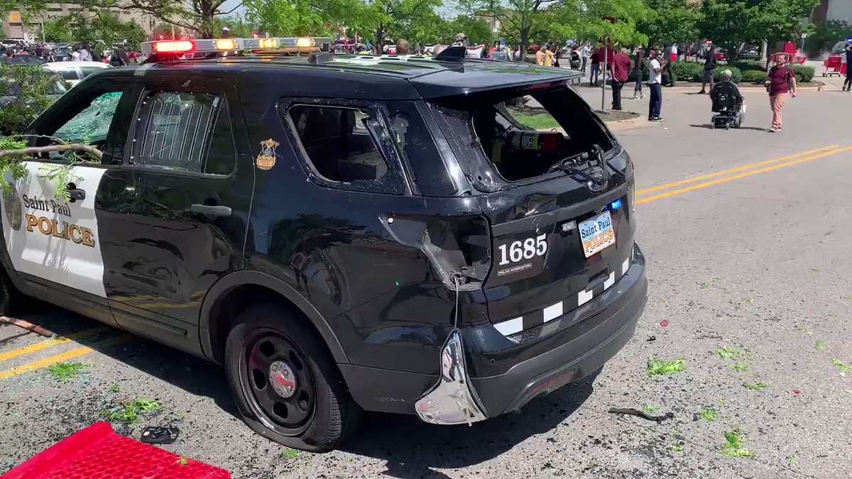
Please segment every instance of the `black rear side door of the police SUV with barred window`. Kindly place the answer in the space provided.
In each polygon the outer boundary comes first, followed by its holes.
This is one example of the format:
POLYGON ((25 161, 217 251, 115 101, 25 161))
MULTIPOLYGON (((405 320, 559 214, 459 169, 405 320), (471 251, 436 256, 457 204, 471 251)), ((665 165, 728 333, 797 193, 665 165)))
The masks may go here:
POLYGON ((233 84, 183 72, 139 81, 124 165, 95 205, 109 218, 106 294, 120 326, 195 350, 205 293, 239 268, 254 165, 233 84))

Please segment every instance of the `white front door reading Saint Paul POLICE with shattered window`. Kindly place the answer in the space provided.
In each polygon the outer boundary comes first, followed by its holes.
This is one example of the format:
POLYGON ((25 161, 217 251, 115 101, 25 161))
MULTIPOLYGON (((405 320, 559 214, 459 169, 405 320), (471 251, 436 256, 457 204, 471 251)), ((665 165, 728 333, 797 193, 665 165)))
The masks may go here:
POLYGON ((27 294, 107 323, 113 320, 103 283, 95 196, 114 162, 115 140, 127 136, 127 122, 118 118, 133 112, 135 91, 114 78, 74 89, 25 136, 33 147, 87 142, 103 153, 100 160, 90 154, 43 153, 22 162, 18 174, 5 176, 7 269, 27 294))

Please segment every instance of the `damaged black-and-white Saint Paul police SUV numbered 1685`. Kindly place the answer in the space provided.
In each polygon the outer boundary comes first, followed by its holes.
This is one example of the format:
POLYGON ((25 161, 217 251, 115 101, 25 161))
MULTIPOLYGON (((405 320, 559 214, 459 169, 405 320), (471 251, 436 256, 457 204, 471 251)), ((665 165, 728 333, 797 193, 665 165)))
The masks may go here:
POLYGON ((469 424, 601 368, 648 285, 633 164, 579 73, 330 44, 145 43, 63 95, 7 177, 3 309, 216 361, 253 430, 311 451, 363 410, 469 424), (41 153, 66 143, 99 158, 41 153))

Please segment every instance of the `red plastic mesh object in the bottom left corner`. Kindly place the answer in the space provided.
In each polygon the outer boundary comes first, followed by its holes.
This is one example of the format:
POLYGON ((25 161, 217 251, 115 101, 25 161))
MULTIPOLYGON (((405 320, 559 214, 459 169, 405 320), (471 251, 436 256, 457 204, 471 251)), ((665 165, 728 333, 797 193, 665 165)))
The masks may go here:
POLYGON ((119 436, 95 423, 56 443, 0 479, 230 479, 227 470, 119 436))

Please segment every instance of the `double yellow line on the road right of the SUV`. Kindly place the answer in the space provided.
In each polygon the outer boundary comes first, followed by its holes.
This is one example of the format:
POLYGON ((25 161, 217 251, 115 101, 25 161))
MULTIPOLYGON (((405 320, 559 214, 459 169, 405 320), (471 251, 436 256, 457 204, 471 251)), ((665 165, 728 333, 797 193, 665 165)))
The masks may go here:
POLYGON ((739 180, 740 178, 745 178, 746 176, 759 175, 760 173, 766 173, 767 171, 779 170, 781 168, 786 168, 787 166, 792 166, 794 164, 805 163, 808 161, 813 161, 815 159, 825 158, 826 156, 831 156, 837 153, 843 153, 852 151, 852 147, 840 147, 839 145, 831 145, 828 147, 816 148, 814 150, 809 150, 807 152, 796 153, 792 155, 782 156, 776 159, 768 159, 766 161, 761 161, 758 163, 746 164, 744 166, 739 166, 737 168, 731 168, 730 170, 718 171, 716 173, 711 173, 710 175, 696 176, 694 178, 689 178, 688 180, 682 180, 680 182, 672 182, 666 183, 665 185, 659 185, 651 188, 643 188, 641 190, 636 191, 636 205, 642 205, 642 203, 648 203, 650 201, 654 201, 656 199, 664 199, 669 198, 671 196, 675 196, 677 194, 687 193, 690 191, 695 191, 701 188, 708 188, 712 186, 716 186, 720 183, 724 182, 733 182, 734 180, 739 180), (791 160, 791 161, 787 161, 791 160), (785 163, 780 163, 785 162, 785 163), (766 166, 771 164, 771 166, 766 166), (765 168, 759 168, 761 166, 765 166, 765 168), (755 170, 755 168, 758 168, 755 170), (745 173, 739 173, 740 171, 745 171, 745 173), (732 173, 737 173, 732 176, 732 173), (724 177, 719 177, 724 176, 724 177), (711 180, 711 178, 717 178, 715 180, 711 180), (705 182, 705 180, 711 180, 709 182, 705 182), (647 196, 650 193, 655 193, 658 191, 662 191, 665 189, 682 187, 683 185, 688 185, 690 183, 698 183, 693 184, 685 188, 677 188, 671 191, 666 191, 665 193, 653 194, 651 196, 647 196), (640 198, 642 197, 642 198, 640 198))

